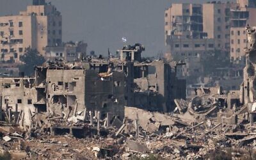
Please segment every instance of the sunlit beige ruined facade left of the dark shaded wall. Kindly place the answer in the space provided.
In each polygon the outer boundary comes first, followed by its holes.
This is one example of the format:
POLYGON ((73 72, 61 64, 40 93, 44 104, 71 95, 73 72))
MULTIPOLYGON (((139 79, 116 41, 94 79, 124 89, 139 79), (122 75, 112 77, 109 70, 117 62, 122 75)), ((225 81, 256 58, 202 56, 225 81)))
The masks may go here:
POLYGON ((84 111, 84 70, 47 70, 46 81, 50 114, 84 111))

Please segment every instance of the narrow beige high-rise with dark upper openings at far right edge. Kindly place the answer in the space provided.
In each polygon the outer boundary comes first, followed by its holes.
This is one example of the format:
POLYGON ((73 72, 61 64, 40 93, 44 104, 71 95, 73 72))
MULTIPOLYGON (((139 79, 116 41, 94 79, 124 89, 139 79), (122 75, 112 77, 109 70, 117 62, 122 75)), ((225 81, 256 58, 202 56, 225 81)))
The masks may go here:
POLYGON ((237 0, 237 6, 231 9, 230 15, 230 61, 240 63, 244 60, 247 43, 245 27, 247 24, 256 26, 255 1, 237 0))

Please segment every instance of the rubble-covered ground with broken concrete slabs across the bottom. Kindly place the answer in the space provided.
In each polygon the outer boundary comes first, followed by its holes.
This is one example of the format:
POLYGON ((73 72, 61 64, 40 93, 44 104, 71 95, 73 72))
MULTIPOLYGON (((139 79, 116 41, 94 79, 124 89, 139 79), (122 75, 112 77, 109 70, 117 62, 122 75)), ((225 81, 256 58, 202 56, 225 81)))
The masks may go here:
POLYGON ((256 158, 256 127, 246 123, 247 114, 239 115, 234 125, 218 123, 210 115, 200 121, 178 116, 183 115, 127 107, 124 123, 119 124, 113 118, 106 127, 104 120, 100 122, 100 135, 93 127, 97 119, 93 119, 92 125, 78 122, 65 127, 60 127, 63 122, 58 120, 59 127, 55 130, 32 129, 29 136, 18 127, 3 123, 1 154, 13 159, 256 158), (73 129, 72 132, 67 128, 73 129), (83 129, 74 130, 77 128, 83 129), (76 138, 77 135, 84 138, 76 138))

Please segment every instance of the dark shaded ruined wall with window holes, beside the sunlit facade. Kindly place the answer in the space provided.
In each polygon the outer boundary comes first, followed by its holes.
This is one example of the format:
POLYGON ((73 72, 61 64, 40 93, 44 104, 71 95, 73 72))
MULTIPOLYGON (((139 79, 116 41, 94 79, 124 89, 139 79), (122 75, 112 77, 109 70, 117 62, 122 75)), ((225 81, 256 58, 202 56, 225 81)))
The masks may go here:
POLYGON ((86 70, 85 106, 88 111, 101 111, 124 118, 126 81, 124 72, 114 71, 106 76, 99 76, 95 70, 86 70))

